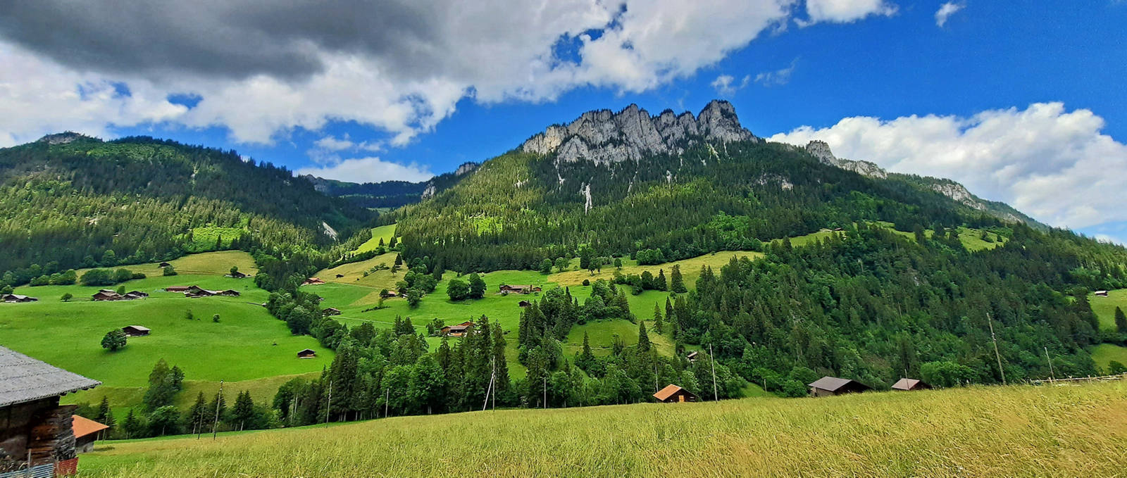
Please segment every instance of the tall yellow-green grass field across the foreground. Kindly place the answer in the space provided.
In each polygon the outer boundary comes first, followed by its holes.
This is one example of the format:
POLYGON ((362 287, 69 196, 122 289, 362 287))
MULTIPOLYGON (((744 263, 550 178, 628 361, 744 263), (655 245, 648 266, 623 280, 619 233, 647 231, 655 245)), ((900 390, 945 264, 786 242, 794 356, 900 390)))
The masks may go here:
POLYGON ((99 443, 87 477, 1121 476, 1127 382, 399 417, 99 443))

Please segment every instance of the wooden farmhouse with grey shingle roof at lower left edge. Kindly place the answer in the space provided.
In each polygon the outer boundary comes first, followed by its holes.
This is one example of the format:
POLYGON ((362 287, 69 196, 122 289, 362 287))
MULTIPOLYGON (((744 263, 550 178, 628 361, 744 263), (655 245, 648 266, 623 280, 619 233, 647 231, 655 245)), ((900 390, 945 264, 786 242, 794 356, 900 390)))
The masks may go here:
POLYGON ((0 458, 11 459, 0 460, 0 475, 27 466, 26 476, 74 473, 78 454, 71 416, 76 406, 60 406, 59 397, 99 384, 0 347, 0 458))

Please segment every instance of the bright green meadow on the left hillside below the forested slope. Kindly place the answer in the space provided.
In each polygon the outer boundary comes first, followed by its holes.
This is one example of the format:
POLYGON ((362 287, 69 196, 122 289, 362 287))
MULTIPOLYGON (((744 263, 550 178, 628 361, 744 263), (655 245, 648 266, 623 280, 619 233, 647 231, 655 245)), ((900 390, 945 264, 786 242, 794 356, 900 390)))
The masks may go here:
MULTIPOLYGON (((291 335, 285 324, 257 306, 268 294, 251 280, 216 275, 227 273, 231 264, 241 264, 240 271, 252 271, 252 266, 246 266, 247 260, 246 253, 233 251, 177 259, 174 265, 183 266, 177 267, 179 275, 165 277, 156 273, 123 283, 127 290, 150 294, 133 301, 91 302, 89 296, 98 287, 80 285, 19 287, 17 293, 39 301, 0 303, 0 345, 104 383, 64 397, 68 402, 97 401, 108 396, 115 407, 137 404, 149 372, 160 358, 184 370, 190 399, 196 389, 207 389, 219 380, 242 382, 256 398, 266 397, 267 389, 276 389, 273 378, 319 372, 331 362, 332 352, 320 347, 312 337, 291 335), (170 285, 192 284, 234 289, 242 295, 188 299, 163 291, 170 285), (63 302, 63 293, 74 299, 63 302), (198 320, 187 320, 188 310, 198 320), (212 321, 215 313, 220 315, 218 324, 212 321), (117 352, 101 348, 107 331, 127 325, 149 327, 152 335, 131 337, 128 345, 117 352), (318 357, 298 360, 296 352, 307 347, 317 349, 318 357)), ((269 390, 269 397, 273 393, 269 390)), ((183 393, 181 401, 187 395, 183 393)))

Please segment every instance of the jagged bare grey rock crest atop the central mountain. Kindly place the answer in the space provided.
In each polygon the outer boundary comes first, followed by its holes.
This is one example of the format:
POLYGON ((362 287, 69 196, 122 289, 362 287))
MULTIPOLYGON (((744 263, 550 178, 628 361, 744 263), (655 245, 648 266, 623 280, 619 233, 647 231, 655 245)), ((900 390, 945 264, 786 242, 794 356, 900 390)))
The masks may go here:
POLYGON ((666 109, 651 116, 638 105, 618 113, 598 109, 584 113, 567 125, 549 126, 521 145, 538 154, 556 153, 558 160, 610 163, 638 161, 649 154, 678 154, 700 142, 760 141, 739 124, 736 108, 712 100, 696 116, 666 109))

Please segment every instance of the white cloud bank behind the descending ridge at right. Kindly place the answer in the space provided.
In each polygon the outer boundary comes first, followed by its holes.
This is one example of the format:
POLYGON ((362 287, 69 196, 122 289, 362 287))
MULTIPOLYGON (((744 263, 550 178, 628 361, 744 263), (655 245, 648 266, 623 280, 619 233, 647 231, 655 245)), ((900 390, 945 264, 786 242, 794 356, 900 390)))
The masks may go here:
POLYGON ((849 117, 770 140, 823 140, 838 157, 951 178, 1049 224, 1086 228, 1127 221, 1127 145, 1103 134, 1103 125, 1091 110, 1038 103, 971 117, 849 117))

